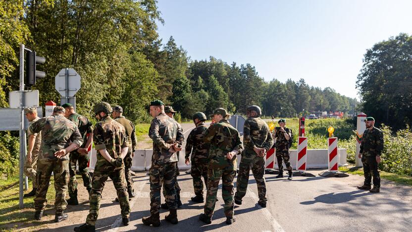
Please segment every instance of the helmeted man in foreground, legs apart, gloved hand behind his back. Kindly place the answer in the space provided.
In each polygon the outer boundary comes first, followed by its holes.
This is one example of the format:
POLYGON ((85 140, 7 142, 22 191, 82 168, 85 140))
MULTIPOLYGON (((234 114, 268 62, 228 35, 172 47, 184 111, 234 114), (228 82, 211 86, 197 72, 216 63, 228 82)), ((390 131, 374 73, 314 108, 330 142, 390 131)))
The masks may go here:
POLYGON ((97 151, 97 162, 93 173, 92 191, 90 191, 90 210, 86 224, 75 227, 74 231, 95 231, 99 215, 102 191, 108 177, 113 181, 119 197, 123 225, 129 225, 129 194, 124 177, 123 159, 129 151, 129 143, 124 127, 109 115, 111 106, 106 102, 95 105, 94 112, 99 120, 93 130, 93 142, 97 151))

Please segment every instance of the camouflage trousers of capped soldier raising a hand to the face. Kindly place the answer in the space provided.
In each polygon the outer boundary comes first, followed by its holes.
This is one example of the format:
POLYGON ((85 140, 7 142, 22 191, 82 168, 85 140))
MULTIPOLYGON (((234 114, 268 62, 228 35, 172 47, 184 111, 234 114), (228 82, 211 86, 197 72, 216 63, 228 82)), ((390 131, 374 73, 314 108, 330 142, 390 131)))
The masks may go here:
POLYGON ((217 189, 220 178, 222 179, 222 198, 225 203, 224 213, 226 217, 233 217, 233 179, 235 178, 234 170, 207 170, 207 193, 205 203, 205 214, 211 218, 213 216, 214 206, 216 204, 217 189))

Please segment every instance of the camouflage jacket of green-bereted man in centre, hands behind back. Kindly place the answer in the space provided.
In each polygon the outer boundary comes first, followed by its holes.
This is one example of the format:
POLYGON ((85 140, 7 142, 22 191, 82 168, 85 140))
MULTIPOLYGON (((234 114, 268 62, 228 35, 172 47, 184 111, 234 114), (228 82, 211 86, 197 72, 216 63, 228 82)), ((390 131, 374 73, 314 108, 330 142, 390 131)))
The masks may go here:
POLYGON ((149 128, 149 137, 153 140, 152 162, 161 165, 178 161, 177 154, 170 152, 169 149, 175 142, 182 144, 184 136, 173 118, 165 113, 153 118, 149 128))

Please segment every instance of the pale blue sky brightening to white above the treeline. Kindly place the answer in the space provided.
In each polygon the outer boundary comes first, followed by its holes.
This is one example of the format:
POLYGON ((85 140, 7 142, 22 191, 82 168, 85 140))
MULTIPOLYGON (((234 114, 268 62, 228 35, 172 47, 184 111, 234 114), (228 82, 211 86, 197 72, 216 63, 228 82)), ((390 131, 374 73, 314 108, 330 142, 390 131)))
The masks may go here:
POLYGON ((412 0, 158 0, 165 44, 192 60, 250 63, 265 81, 304 78, 360 99, 367 49, 412 34, 412 0))

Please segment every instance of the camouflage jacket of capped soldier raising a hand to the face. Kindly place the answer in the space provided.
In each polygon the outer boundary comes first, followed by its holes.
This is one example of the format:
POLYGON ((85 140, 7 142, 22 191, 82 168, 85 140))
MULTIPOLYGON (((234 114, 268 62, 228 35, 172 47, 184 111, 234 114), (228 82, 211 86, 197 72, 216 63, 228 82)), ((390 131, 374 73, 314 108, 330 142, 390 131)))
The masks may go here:
POLYGON ((222 119, 210 126, 205 131, 203 141, 210 143, 208 169, 236 170, 236 156, 228 160, 226 155, 233 150, 242 152, 243 145, 238 130, 227 119, 222 119))

